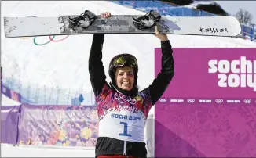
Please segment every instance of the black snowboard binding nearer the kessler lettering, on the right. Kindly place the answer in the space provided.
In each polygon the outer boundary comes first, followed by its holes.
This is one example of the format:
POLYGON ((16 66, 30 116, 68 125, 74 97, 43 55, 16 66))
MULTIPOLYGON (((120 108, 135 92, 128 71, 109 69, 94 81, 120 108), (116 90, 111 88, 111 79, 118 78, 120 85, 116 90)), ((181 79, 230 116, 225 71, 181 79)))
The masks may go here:
POLYGON ((154 27, 159 20, 161 19, 161 15, 154 10, 151 10, 149 13, 144 16, 139 16, 137 18, 133 17, 133 24, 139 30, 148 29, 154 27))

